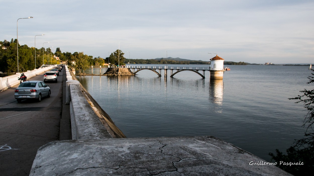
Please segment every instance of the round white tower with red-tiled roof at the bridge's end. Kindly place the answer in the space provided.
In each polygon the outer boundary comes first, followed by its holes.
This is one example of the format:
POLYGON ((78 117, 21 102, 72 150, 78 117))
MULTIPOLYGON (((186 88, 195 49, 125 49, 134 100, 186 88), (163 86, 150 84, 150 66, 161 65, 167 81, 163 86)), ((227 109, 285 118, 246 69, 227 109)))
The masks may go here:
POLYGON ((224 76, 224 59, 218 54, 210 59, 210 79, 223 79, 224 76))

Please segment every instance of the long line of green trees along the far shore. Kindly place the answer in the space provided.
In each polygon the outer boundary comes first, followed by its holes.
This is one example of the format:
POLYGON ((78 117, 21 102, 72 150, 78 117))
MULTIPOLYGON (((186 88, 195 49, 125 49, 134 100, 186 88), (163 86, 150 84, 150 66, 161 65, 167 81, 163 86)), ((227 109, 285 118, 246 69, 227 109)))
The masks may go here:
MULTIPOLYGON (((5 73, 15 73, 17 69, 17 39, 11 39, 11 41, 0 41, 0 71, 5 73)), ((109 58, 93 57, 84 52, 62 52, 58 47, 55 52, 52 52, 52 48, 34 48, 28 47, 27 45, 19 44, 19 72, 25 72, 27 70, 33 70, 40 68, 43 64, 59 64, 60 61, 68 62, 68 65, 74 67, 81 72, 86 70, 88 66, 99 66, 105 64, 111 65, 125 65, 125 63, 130 64, 209 64, 208 61, 201 60, 170 60, 162 58, 160 60, 156 59, 126 59, 124 53, 117 49, 115 52, 111 53, 109 58), (35 54, 36 54, 36 64, 35 64, 35 54), (59 59, 59 60, 58 60, 59 59), (36 65, 36 66, 35 66, 36 65)), ((231 62, 225 61, 225 65, 248 65, 245 62, 231 62)))

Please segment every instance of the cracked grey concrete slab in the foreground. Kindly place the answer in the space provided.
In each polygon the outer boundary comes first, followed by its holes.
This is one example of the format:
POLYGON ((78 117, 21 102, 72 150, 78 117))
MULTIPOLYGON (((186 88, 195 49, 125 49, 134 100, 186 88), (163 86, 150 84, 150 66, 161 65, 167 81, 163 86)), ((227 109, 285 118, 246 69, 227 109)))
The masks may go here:
POLYGON ((68 140, 38 149, 30 175, 291 175, 215 137, 68 140))

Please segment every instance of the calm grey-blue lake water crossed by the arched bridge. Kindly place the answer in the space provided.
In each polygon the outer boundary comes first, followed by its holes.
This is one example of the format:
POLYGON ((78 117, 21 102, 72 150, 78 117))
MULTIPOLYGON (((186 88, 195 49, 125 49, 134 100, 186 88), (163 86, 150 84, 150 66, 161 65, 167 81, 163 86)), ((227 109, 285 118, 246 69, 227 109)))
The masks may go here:
POLYGON ((127 137, 214 136, 270 161, 269 152, 276 148, 285 152, 294 139, 303 137, 305 108, 288 98, 312 89, 306 84, 311 70, 227 66, 231 70, 225 71, 223 80, 210 80, 209 71, 205 79, 192 71, 170 78, 170 70, 166 79, 163 71, 158 77, 150 70, 136 76, 77 78, 127 137))

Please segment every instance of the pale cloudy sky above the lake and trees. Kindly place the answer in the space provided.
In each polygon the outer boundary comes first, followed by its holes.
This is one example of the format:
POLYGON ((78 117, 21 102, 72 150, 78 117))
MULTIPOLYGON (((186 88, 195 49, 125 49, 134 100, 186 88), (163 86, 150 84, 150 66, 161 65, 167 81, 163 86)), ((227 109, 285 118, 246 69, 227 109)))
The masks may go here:
POLYGON ((0 0, 0 4, 0 40, 16 39, 18 28, 19 44, 38 49, 59 47, 62 52, 106 58, 120 47, 127 59, 209 61, 218 54, 234 62, 314 64, 313 0, 0 0), (45 35, 35 37, 41 34, 45 35))

